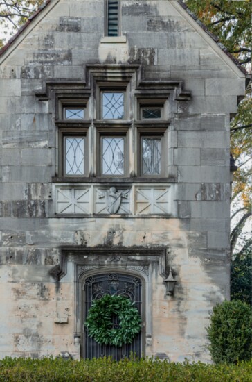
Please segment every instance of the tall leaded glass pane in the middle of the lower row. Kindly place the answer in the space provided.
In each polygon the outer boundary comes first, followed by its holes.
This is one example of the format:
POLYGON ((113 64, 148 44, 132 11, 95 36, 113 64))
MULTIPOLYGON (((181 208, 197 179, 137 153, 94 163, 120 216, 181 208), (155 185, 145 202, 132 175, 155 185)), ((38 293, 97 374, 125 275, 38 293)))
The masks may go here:
POLYGON ((102 138, 102 175, 124 174, 124 138, 102 138))

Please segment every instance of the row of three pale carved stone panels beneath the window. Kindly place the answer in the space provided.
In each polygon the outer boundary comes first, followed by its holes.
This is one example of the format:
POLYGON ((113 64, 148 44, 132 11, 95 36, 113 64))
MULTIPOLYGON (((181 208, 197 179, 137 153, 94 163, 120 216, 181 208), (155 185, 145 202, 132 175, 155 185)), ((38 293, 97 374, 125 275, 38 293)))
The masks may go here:
POLYGON ((177 216, 174 185, 55 183, 53 215, 177 216))

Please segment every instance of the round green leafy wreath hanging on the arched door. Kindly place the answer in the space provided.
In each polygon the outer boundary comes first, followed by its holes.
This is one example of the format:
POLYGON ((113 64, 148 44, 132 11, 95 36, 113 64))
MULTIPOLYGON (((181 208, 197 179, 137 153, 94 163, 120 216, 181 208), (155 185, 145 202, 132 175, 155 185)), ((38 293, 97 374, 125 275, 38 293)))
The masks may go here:
POLYGON ((134 302, 127 297, 105 294, 93 301, 85 326, 89 337, 98 344, 122 347, 131 344, 141 331, 141 317, 134 302), (118 316, 118 327, 112 322, 115 315, 118 316))

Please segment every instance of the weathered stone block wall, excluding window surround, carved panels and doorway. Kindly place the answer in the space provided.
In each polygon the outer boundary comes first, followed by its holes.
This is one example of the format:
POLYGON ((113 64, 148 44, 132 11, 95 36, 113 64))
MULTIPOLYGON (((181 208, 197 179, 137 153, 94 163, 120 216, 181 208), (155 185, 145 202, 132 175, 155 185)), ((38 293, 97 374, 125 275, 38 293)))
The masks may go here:
POLYGON ((60 281, 50 272, 68 248, 135 248, 166 254, 163 274, 150 268, 145 353, 209 360, 209 312, 229 297, 228 130, 244 74, 177 1, 121 3, 126 38, 104 38, 103 0, 53 0, 0 58, 1 357, 78 358, 73 260, 60 281), (143 83, 183 81, 192 94, 171 98, 167 215, 55 215, 55 97, 36 94, 50 82, 86 83, 86 65, 96 64, 141 65, 143 83), (173 297, 163 283, 168 267, 173 297))

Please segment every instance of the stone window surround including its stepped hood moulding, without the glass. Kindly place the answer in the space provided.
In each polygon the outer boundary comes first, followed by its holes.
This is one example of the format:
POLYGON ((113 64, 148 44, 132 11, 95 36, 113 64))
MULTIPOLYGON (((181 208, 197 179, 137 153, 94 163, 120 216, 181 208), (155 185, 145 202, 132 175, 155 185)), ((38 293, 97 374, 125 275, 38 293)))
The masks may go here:
MULTIPOLYGON (((79 133, 80 129, 87 135, 88 141, 88 171, 87 177, 73 176, 71 182, 92 182, 98 181, 100 183, 106 181, 116 182, 116 177, 103 178, 100 176, 98 161, 95 155, 93 155, 93 145, 97 144, 99 134, 104 133, 104 129, 109 133, 115 133, 120 130, 120 133, 129 135, 129 147, 132 152, 129 153, 129 161, 131 168, 127 173, 127 176, 123 178, 126 183, 135 183, 145 181, 147 183, 156 181, 166 181, 174 183, 177 181, 176 172, 174 171, 173 163, 168 163, 165 159, 165 168, 169 167, 168 172, 165 171, 159 176, 142 177, 139 171, 139 160, 136 156, 136 147, 138 147, 139 135, 146 133, 147 135, 160 133, 160 135, 168 134, 170 130, 170 123, 172 123, 172 116, 174 113, 183 113, 181 111, 184 101, 188 103, 190 101, 191 94, 183 90, 183 81, 142 81, 142 67, 141 65, 86 65, 85 67, 84 81, 45 81, 42 84, 42 90, 37 90, 35 95, 40 101, 51 100, 51 113, 55 113, 55 126, 56 130, 69 129, 73 133, 79 133), (118 84, 119 87, 125 89, 127 94, 127 108, 130 110, 130 114, 127 115, 125 120, 100 120, 96 119, 96 115, 100 110, 100 88, 107 85, 107 88, 115 88, 118 84), (97 103, 98 100, 98 103, 97 103), (155 100, 155 101, 154 101, 155 100), (144 120, 140 119, 140 107, 141 104, 149 104, 153 102, 156 104, 156 100, 160 105, 163 105, 163 111, 167 119, 144 120), (169 100, 169 101, 168 101, 169 100), (86 118, 85 120, 73 119, 63 120, 62 105, 68 103, 72 106, 74 103, 77 105, 80 103, 86 106, 86 118), (55 111, 53 111, 55 110, 55 111), (109 129, 109 130, 108 130, 109 129), (90 134, 90 131, 93 131, 90 134), (92 144, 92 146, 91 146, 92 144), (133 150, 134 149, 134 150, 133 150), (91 154, 91 155, 90 155, 91 154), (169 174, 170 177, 168 176, 169 174), (163 177, 163 178, 162 178, 163 177)), ((55 136, 55 148, 56 152, 60 149, 59 136, 56 131, 55 136)), ((63 130, 62 130, 63 131, 63 130)), ((167 137, 168 138, 168 137, 167 137)), ((168 144, 168 149, 173 149, 168 139, 165 138, 168 144)), ((165 152, 167 150, 165 149, 165 152)), ((69 177, 64 177, 62 172, 62 166, 58 163, 58 152, 55 162, 55 176, 53 176, 53 182, 67 182, 69 177)))

